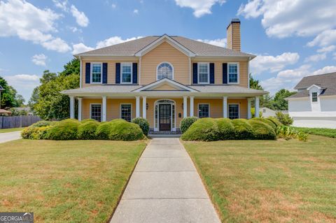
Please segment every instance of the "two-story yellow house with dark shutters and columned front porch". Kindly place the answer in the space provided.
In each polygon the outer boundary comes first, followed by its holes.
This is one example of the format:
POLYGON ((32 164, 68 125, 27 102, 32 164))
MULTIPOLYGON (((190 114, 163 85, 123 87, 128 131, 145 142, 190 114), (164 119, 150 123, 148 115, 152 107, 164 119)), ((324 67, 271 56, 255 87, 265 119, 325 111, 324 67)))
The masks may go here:
POLYGON ((79 120, 144 117, 153 131, 178 131, 188 116, 251 118, 251 100, 259 110, 266 92, 249 88, 255 56, 240 50, 239 20, 227 34, 228 48, 165 34, 74 55, 80 88, 62 92, 71 118, 75 98, 79 120))

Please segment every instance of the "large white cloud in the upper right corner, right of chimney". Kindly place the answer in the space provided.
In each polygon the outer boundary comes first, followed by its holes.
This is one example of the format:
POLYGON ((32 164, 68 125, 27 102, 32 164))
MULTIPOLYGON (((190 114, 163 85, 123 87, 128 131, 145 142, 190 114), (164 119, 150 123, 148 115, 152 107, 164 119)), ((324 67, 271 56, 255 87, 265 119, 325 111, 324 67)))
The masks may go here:
POLYGON ((268 36, 314 36, 336 26, 335 0, 252 0, 241 4, 238 15, 262 16, 268 36))

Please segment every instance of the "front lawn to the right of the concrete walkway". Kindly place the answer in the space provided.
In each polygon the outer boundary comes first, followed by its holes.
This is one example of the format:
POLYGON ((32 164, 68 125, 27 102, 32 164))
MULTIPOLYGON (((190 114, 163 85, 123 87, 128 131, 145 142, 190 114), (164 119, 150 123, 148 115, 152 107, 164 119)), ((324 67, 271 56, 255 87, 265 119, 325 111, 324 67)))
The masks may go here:
POLYGON ((183 142, 222 222, 336 222, 336 139, 183 142))

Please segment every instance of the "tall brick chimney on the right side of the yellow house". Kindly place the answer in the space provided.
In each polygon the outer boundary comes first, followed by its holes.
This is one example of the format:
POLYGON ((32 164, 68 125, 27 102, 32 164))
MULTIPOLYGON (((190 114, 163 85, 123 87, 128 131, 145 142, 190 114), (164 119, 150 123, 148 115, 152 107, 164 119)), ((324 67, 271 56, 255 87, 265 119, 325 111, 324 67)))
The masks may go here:
POLYGON ((227 48, 240 51, 240 20, 232 19, 226 28, 227 48))

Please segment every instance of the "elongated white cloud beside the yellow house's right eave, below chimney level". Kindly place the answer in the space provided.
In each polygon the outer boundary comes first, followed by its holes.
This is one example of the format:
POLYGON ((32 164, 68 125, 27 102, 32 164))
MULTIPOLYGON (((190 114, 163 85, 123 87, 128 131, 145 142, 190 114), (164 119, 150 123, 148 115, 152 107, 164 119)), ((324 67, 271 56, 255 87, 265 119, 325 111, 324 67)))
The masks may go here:
POLYGON ((258 55, 250 63, 251 72, 259 74, 263 71, 276 72, 281 71, 286 66, 295 64, 300 59, 297 52, 283 52, 282 55, 269 56, 258 55))

